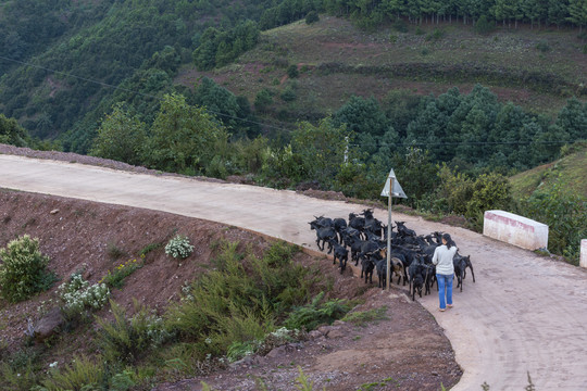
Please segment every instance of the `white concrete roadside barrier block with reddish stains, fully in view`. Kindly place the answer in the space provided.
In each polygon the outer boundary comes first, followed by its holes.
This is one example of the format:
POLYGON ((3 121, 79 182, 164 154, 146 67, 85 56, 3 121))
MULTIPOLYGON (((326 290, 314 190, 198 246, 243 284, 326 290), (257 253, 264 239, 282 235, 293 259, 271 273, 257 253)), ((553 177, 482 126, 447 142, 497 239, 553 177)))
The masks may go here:
POLYGON ((485 212, 483 235, 528 250, 548 248, 548 226, 503 211, 485 212))

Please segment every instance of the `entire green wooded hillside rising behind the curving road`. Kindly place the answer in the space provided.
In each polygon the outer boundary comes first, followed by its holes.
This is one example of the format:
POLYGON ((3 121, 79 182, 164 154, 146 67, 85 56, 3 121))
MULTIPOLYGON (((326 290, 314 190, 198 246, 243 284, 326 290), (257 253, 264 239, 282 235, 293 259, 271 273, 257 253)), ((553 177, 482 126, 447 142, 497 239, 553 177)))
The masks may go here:
POLYGON ((0 1, 0 141, 371 199, 395 167, 402 202, 478 228, 490 207, 536 214, 545 195, 517 200, 507 176, 587 139, 586 15, 583 0, 0 1))

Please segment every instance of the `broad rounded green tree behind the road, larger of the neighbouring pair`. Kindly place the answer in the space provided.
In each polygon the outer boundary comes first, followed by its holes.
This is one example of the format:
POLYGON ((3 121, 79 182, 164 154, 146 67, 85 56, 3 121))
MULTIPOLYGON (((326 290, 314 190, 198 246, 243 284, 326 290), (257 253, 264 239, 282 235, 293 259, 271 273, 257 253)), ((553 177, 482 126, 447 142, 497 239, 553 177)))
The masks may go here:
POLYGON ((151 126, 148 160, 159 169, 202 173, 227 137, 205 109, 187 104, 184 96, 165 94, 151 126))

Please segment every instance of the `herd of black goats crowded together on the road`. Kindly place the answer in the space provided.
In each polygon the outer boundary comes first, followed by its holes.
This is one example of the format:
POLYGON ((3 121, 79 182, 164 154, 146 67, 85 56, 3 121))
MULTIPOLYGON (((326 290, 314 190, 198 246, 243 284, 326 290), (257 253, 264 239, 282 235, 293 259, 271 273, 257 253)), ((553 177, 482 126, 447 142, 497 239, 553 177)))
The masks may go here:
MULTIPOLYGON (((388 227, 373 216, 372 209, 364 210, 360 214, 350 213, 348 222, 345 218, 314 216, 314 220, 309 224, 310 228, 316 231, 319 249, 324 251, 327 247, 328 254, 333 253, 334 263, 338 261, 340 273, 345 272, 350 250, 354 265, 359 266, 361 263, 361 278, 365 278, 365 283, 373 282, 373 273, 376 270, 378 287, 385 289, 388 227)), ((403 286, 409 282, 412 300, 415 299, 416 292, 422 298, 422 290, 424 294, 430 293, 430 287, 436 281, 436 266, 432 263, 432 258, 435 249, 441 244, 441 237, 442 232, 419 236, 413 229, 405 227, 404 222, 396 222, 396 226, 391 227, 389 275, 391 280, 394 276, 398 277, 398 285, 402 279, 403 286)), ((452 262, 457 288, 462 292, 467 267, 475 282, 471 256, 463 256, 457 252, 452 262)))

